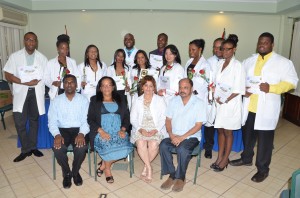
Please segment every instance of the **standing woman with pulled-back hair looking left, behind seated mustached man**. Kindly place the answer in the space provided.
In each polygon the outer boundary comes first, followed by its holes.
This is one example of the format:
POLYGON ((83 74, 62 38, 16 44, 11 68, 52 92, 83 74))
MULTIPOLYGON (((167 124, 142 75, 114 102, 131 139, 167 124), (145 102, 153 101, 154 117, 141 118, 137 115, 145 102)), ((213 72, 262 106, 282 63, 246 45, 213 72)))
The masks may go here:
POLYGON ((209 78, 212 75, 209 63, 202 56, 204 46, 203 39, 195 39, 190 42, 189 56, 191 59, 184 67, 184 76, 193 81, 194 94, 207 104, 209 80, 212 80, 209 78))

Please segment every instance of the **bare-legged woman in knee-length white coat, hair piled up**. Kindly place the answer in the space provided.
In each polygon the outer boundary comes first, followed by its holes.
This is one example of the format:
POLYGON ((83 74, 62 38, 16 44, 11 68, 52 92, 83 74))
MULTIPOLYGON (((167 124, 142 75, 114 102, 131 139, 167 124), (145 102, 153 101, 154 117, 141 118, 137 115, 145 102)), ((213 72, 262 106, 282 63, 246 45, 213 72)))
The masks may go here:
POLYGON ((215 128, 218 129, 219 152, 218 158, 211 168, 217 172, 227 168, 233 142, 232 130, 241 128, 245 71, 241 63, 234 57, 237 42, 238 38, 234 35, 222 43, 224 59, 218 64, 215 78, 214 97, 217 103, 215 128))

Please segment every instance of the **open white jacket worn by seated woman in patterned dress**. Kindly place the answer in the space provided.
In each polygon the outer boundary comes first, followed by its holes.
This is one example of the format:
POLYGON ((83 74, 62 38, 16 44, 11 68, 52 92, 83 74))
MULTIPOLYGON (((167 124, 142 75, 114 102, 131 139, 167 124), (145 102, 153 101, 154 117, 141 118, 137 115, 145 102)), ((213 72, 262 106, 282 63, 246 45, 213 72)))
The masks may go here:
MULTIPOLYGON (((161 96, 156 94, 153 95, 150 111, 154 121, 155 129, 158 133, 162 134, 164 138, 168 137, 168 133, 165 127, 165 111, 166 103, 161 96)), ((144 95, 138 97, 132 105, 130 112, 130 123, 132 124, 131 133, 139 133, 138 130, 141 128, 144 116, 144 95)))

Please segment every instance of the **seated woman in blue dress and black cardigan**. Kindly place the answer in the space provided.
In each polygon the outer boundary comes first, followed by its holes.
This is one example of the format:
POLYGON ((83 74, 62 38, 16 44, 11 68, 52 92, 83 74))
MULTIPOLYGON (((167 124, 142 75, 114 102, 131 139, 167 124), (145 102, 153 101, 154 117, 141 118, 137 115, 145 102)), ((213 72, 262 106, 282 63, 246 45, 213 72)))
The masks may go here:
POLYGON ((88 123, 91 148, 102 158, 97 174, 100 177, 104 172, 107 183, 113 183, 111 165, 125 158, 133 147, 126 133, 130 124, 129 111, 111 77, 105 76, 99 80, 97 93, 91 97, 88 123))

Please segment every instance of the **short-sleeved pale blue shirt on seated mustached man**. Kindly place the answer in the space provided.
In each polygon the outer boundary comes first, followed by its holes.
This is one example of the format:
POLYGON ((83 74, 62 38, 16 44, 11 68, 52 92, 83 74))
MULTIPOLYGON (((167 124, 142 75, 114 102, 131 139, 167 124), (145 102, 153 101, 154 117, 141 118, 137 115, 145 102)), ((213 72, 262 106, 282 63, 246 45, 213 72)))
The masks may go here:
MULTIPOLYGON (((196 122, 206 122, 206 108, 204 102, 192 95, 186 105, 183 104, 180 96, 171 99, 166 116, 172 119, 172 132, 175 135, 183 135, 193 128, 196 122)), ((201 140, 201 130, 188 138, 196 137, 201 140)))

